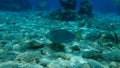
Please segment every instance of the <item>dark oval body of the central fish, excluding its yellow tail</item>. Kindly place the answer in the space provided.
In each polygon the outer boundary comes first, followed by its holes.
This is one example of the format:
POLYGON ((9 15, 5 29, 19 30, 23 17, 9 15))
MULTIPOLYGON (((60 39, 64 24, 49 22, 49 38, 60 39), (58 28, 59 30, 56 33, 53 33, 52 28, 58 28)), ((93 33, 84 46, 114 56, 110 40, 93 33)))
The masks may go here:
POLYGON ((53 43, 68 43, 75 39, 75 35, 66 29, 51 30, 46 37, 53 43))

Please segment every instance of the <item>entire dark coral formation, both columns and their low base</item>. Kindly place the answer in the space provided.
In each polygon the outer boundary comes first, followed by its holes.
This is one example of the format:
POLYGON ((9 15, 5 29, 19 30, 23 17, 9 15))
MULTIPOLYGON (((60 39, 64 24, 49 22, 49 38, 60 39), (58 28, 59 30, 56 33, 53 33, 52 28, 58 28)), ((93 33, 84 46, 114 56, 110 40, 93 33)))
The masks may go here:
POLYGON ((63 9, 50 13, 50 18, 61 21, 75 21, 77 19, 92 17, 92 3, 89 0, 82 0, 78 13, 76 12, 76 0, 60 0, 63 9))

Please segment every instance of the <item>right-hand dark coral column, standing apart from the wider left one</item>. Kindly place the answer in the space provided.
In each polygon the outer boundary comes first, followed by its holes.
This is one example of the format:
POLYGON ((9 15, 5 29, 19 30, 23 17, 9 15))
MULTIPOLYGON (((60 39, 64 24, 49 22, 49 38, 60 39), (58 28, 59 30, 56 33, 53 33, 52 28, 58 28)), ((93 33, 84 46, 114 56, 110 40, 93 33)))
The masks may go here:
POLYGON ((78 14, 92 16, 92 4, 89 0, 82 0, 78 14))

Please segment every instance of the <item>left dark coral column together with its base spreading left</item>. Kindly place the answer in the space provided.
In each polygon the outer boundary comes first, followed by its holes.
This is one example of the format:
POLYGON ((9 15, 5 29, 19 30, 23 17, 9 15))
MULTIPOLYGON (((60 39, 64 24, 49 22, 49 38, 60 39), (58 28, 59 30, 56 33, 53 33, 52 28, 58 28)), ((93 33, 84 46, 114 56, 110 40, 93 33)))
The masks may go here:
POLYGON ((59 3, 63 7, 63 9, 53 11, 50 14, 50 18, 61 21, 76 20, 76 0, 60 0, 59 3))

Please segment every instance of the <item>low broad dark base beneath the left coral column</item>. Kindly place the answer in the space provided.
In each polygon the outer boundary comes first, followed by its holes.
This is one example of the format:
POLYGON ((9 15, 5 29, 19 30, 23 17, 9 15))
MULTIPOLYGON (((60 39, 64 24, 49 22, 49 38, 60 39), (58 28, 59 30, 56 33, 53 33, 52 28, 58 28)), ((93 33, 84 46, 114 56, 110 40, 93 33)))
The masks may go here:
POLYGON ((52 20, 74 21, 76 20, 76 12, 74 10, 55 10, 49 14, 52 20))

